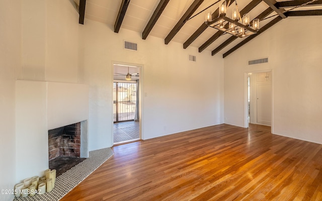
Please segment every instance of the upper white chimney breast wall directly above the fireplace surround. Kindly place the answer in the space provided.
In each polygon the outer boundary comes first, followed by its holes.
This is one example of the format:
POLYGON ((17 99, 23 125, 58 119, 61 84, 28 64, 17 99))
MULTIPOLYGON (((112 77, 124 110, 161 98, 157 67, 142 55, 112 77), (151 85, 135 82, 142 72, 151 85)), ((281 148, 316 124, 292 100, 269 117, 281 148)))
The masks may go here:
POLYGON ((78 82, 78 13, 70 1, 22 1, 19 79, 78 82))

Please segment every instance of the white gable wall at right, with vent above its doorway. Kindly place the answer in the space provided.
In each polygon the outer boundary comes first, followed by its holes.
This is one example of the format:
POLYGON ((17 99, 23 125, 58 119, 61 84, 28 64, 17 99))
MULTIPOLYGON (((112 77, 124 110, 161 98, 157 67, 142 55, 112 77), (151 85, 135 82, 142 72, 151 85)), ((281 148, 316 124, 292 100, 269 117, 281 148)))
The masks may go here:
POLYGON ((245 72, 273 69, 272 132, 322 144, 320 31, 321 17, 289 17, 226 57, 225 123, 245 125, 245 72), (248 60, 264 57, 269 63, 248 66, 248 60))

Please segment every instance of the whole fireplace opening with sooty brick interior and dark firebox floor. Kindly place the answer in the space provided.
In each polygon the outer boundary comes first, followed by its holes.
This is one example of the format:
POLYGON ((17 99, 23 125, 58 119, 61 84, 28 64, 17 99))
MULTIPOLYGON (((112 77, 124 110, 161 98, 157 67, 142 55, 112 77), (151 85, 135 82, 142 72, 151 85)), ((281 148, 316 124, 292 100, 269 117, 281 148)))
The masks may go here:
POLYGON ((81 158, 81 123, 48 131, 49 169, 61 175, 86 158, 81 158))

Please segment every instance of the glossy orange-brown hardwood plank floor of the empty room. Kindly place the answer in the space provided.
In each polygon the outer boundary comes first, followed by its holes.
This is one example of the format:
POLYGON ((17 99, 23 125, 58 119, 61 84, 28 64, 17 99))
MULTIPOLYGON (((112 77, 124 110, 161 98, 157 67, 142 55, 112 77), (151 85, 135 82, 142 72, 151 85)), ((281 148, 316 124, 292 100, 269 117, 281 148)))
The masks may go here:
POLYGON ((61 200, 322 200, 322 145, 217 125, 113 148, 61 200))

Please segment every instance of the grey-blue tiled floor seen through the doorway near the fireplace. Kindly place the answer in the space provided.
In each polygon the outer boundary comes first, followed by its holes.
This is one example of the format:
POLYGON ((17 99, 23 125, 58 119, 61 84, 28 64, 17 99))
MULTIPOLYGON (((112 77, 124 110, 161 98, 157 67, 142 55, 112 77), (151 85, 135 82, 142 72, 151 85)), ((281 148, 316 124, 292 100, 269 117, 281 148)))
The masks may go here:
POLYGON ((139 122, 114 123, 114 143, 139 139, 139 122))

